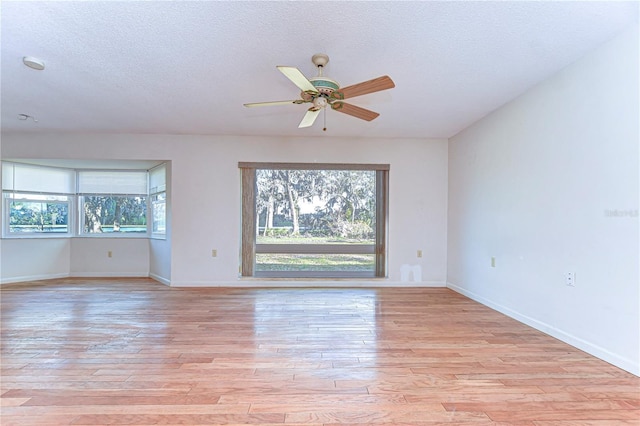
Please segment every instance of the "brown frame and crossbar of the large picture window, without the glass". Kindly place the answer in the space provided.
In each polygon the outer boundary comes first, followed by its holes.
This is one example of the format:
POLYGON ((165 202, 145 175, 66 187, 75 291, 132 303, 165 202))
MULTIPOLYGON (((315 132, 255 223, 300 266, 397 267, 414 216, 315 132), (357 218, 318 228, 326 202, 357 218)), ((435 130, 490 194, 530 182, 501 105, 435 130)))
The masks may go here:
POLYGON ((386 278, 389 170, 388 164, 348 163, 258 163, 239 162, 241 180, 240 276, 255 278, 386 278), (376 228, 374 244, 258 244, 256 243, 256 170, 347 170, 376 173, 376 228), (375 266, 369 271, 256 271, 256 254, 373 254, 375 266))

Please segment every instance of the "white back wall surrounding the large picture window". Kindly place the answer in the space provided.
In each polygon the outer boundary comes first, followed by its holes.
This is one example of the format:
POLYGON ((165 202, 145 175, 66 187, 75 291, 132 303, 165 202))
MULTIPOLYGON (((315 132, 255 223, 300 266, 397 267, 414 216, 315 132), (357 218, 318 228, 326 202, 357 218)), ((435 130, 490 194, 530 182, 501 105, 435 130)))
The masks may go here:
POLYGON ((422 282, 405 285, 446 282, 444 139, 3 134, 2 157, 170 160, 170 248, 151 241, 148 259, 152 276, 173 286, 252 285, 238 278, 238 162, 388 163, 389 279, 381 284, 397 284, 402 264, 422 266, 422 282), (211 257, 212 249, 218 250, 217 258, 211 257), (418 249, 423 250, 420 259, 418 249))

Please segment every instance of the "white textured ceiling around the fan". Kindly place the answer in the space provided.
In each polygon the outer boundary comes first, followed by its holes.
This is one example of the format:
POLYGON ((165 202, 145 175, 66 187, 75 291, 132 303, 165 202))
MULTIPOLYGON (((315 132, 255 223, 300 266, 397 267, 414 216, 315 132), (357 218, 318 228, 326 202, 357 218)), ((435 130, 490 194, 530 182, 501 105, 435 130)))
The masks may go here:
POLYGON ((638 21, 638 2, 2 1, 2 130, 450 137, 638 21), (348 86, 372 122, 298 129, 276 65, 348 86), (22 64, 42 59, 44 71, 22 64), (38 121, 18 120, 18 114, 38 121))

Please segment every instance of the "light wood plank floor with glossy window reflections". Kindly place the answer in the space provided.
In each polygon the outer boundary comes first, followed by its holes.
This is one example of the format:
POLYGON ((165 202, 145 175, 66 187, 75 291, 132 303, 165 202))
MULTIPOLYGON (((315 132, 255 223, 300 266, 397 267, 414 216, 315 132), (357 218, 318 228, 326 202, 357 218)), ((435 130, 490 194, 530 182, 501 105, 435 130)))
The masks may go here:
POLYGON ((640 378, 444 288, 0 294, 3 426, 640 423, 640 378))

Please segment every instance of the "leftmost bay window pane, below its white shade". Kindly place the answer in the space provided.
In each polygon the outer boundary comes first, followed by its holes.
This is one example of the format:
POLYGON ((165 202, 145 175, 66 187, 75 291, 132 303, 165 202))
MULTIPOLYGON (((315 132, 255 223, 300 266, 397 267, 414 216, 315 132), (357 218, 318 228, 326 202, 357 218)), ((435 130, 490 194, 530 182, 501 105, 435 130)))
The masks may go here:
POLYGON ((10 235, 68 234, 69 198, 65 195, 5 193, 10 235))

